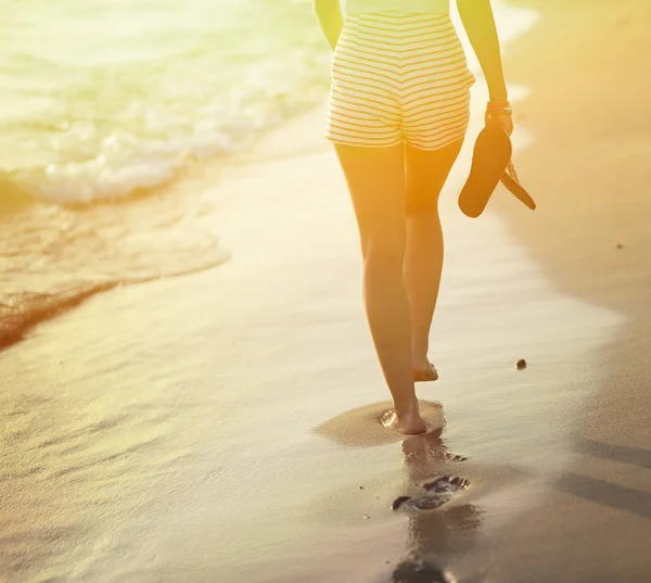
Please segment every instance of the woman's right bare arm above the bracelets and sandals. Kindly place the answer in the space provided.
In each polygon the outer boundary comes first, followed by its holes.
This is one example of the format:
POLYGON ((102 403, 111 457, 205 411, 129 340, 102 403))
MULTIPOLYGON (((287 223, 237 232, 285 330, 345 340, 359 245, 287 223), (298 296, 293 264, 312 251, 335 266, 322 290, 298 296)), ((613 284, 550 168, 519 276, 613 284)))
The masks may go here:
POLYGON ((457 0, 457 7, 486 77, 490 101, 507 102, 509 98, 490 0, 457 0))

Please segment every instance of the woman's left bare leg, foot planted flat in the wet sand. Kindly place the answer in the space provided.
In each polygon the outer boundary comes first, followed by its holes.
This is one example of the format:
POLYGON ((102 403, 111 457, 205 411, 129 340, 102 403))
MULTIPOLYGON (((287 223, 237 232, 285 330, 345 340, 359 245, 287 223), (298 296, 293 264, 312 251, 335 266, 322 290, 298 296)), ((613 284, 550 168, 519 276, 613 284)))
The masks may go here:
POLYGON ((411 366, 409 301, 405 261, 405 150, 335 145, 359 227, 363 301, 394 409, 383 422, 404 433, 421 433, 411 366))

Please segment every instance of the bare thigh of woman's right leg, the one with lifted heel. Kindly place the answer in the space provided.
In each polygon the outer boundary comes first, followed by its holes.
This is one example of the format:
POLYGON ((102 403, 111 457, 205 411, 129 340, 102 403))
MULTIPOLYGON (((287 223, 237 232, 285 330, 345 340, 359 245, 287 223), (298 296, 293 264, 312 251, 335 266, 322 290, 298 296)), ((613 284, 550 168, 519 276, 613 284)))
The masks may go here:
POLYGON ((463 138, 438 150, 405 145, 405 204, 408 216, 438 210, 438 197, 462 144, 463 138))

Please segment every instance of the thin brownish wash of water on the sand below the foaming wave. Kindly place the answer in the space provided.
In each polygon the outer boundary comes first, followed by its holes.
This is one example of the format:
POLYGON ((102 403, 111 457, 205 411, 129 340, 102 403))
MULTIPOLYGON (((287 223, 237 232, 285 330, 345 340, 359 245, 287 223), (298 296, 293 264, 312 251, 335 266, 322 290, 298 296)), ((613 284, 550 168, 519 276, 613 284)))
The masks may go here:
POLYGON ((215 214, 195 192, 69 208, 3 197, 0 347, 99 292, 228 261, 215 214))

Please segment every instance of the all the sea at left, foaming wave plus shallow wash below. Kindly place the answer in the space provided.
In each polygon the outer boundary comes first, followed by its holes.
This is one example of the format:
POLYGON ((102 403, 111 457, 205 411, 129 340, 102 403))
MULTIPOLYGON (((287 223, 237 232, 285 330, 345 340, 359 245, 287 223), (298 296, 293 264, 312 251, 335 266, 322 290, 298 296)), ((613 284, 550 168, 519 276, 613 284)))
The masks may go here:
POLYGON ((328 88, 310 0, 0 13, 0 345, 99 290, 224 261, 205 201, 164 192, 328 88))

